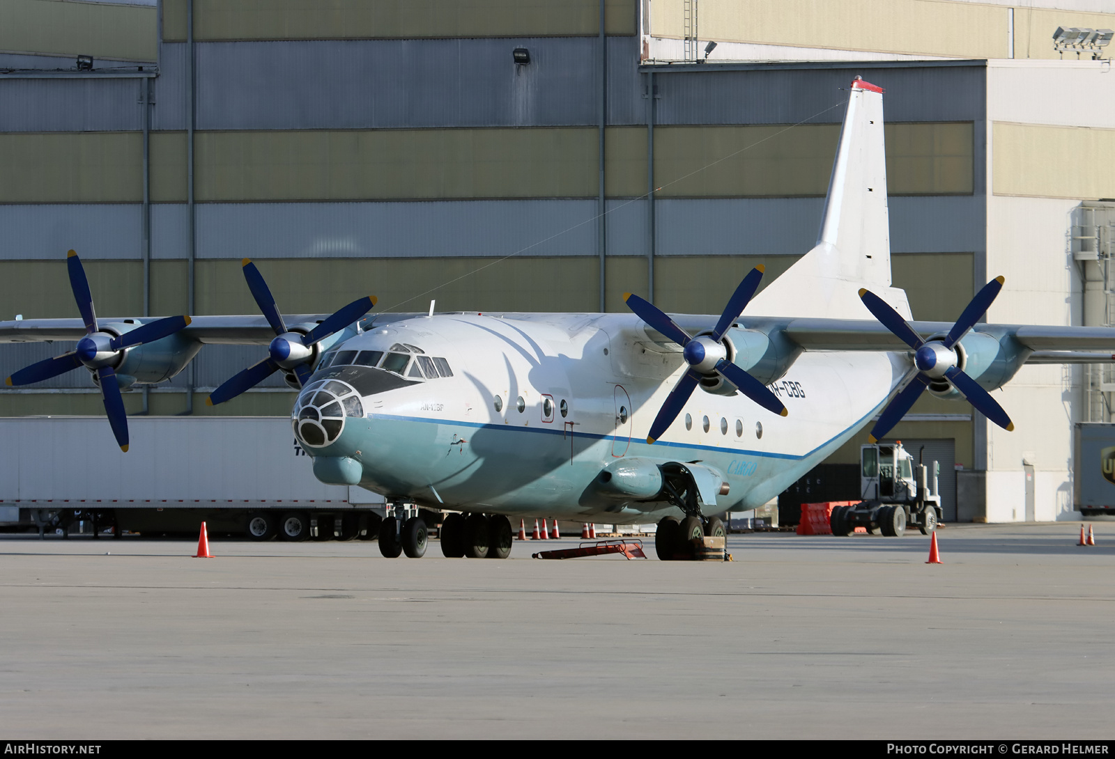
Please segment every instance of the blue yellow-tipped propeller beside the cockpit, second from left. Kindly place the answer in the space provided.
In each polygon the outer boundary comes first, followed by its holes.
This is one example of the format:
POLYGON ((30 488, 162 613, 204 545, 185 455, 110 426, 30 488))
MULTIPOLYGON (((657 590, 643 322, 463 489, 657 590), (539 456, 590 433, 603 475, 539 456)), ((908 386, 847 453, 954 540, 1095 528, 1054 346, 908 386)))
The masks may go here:
POLYGON ((271 295, 271 290, 263 281, 260 270, 250 259, 243 260, 243 266, 248 289, 252 291, 252 298, 255 299, 260 311, 271 324, 271 329, 274 330, 275 339, 268 346, 268 358, 244 369, 210 393, 210 397, 205 399, 210 406, 216 406, 235 398, 245 390, 254 388, 280 369, 293 372, 299 385, 304 386, 312 373, 310 364, 313 361, 313 346, 330 334, 345 329, 368 313, 376 304, 376 298, 368 295, 352 301, 306 334, 291 332, 287 329, 287 323, 283 321, 282 314, 279 313, 275 299, 271 295))

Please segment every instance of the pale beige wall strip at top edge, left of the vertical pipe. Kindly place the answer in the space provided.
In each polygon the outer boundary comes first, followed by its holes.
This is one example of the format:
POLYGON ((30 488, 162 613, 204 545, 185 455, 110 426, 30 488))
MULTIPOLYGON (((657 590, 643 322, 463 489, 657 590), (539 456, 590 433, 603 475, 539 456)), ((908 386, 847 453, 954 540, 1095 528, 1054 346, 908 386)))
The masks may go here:
MULTIPOLYGON (((651 0, 652 35, 682 37, 682 1, 651 0)), ((697 21, 701 39, 730 42, 1007 57, 1007 9, 970 2, 700 0, 697 21)))

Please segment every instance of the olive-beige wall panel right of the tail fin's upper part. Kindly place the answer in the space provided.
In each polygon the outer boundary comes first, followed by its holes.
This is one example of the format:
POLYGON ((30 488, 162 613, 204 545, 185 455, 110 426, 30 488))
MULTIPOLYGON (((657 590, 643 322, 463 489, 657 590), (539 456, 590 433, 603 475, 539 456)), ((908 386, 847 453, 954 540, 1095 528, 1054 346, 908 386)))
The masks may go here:
POLYGON ((888 124, 886 187, 891 195, 970 195, 975 176, 971 121, 888 124))

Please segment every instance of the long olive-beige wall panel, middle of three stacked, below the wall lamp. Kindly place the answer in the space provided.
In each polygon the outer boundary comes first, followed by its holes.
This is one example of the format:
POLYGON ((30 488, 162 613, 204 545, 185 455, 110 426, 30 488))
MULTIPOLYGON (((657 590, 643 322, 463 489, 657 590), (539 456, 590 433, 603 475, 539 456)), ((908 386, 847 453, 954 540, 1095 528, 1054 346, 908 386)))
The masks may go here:
POLYGON ((198 201, 593 197, 597 132, 419 129, 196 135, 198 201))

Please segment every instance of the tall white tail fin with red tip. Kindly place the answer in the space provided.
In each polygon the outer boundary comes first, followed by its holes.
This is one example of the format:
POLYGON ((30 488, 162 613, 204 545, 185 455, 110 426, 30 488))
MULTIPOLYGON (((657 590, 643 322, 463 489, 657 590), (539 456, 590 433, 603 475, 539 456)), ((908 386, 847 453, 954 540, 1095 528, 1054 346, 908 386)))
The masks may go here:
POLYGON ((886 213, 883 90, 852 81, 817 244, 755 296, 756 315, 871 319, 860 300, 867 288, 910 318, 902 290, 891 288, 886 213))

